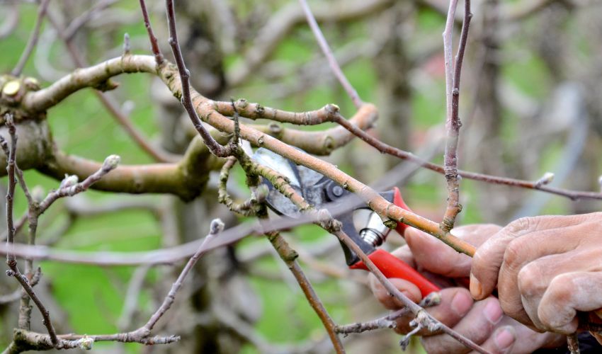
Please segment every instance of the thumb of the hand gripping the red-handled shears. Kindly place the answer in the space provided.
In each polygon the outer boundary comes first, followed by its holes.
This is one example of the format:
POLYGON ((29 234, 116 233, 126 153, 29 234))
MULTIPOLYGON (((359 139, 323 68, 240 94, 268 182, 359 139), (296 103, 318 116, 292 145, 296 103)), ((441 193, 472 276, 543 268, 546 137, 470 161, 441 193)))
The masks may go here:
POLYGON ((467 277, 472 259, 418 229, 408 228, 405 239, 414 261, 431 273, 447 278, 467 277))

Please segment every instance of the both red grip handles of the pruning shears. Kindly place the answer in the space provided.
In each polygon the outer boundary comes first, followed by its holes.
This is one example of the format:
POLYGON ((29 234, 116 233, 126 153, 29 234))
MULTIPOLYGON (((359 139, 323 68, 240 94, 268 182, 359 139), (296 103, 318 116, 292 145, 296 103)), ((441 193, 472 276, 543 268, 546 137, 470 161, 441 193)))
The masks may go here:
MULTIPOLYGON (((398 207, 402 207, 405 210, 411 211, 404 202, 402 193, 399 192, 399 188, 394 187, 393 192, 393 204, 397 205, 398 207)), ((397 232, 403 236, 408 227, 409 226, 407 224, 398 222, 395 230, 397 230, 397 232)), ((440 290, 439 287, 424 278, 424 276, 418 273, 414 268, 411 268, 411 266, 409 266, 407 263, 385 250, 377 249, 373 253, 370 253, 368 258, 370 258, 370 261, 373 261, 373 263, 382 272, 382 274, 385 275, 385 277, 401 278, 416 285, 416 287, 420 289, 422 297, 426 297, 426 295, 430 294, 431 292, 440 290)), ((354 265, 351 265, 350 268, 368 270, 363 262, 358 262, 354 265)))

